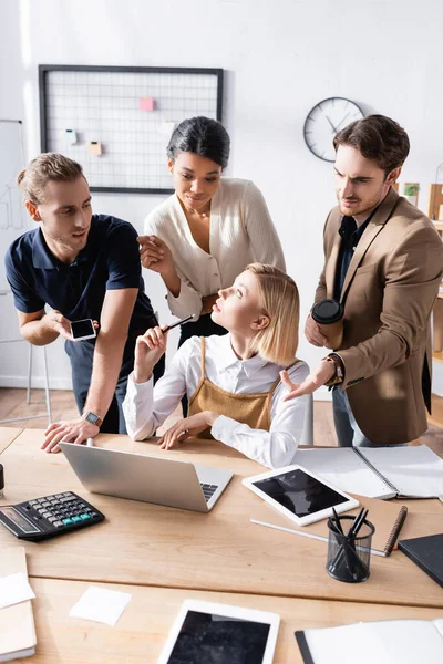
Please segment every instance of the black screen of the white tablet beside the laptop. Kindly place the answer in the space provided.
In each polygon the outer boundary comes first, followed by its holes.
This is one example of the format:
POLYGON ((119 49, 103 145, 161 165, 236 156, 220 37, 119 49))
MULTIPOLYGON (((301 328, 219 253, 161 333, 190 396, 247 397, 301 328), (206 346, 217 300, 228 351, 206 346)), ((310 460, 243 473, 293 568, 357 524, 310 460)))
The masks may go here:
POLYGON ((349 500, 299 468, 253 484, 300 518, 349 500))

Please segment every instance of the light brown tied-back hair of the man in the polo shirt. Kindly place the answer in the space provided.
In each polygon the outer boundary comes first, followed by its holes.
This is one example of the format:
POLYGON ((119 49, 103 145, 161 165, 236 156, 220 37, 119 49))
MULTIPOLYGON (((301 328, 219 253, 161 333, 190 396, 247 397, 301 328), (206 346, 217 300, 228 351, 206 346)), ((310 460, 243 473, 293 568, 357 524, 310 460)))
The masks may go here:
POLYGON ((56 153, 43 153, 32 159, 17 177, 17 184, 27 200, 34 205, 44 201, 44 187, 50 180, 73 181, 84 177, 83 168, 76 162, 56 153))

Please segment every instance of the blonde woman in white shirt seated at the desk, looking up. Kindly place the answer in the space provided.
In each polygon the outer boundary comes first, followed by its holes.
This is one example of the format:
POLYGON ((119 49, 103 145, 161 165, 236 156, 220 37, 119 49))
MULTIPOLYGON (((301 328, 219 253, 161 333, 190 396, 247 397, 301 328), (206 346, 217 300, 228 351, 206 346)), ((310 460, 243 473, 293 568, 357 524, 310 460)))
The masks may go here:
POLYGON ((213 305, 224 336, 188 339, 164 376, 153 369, 166 349, 161 328, 138 336, 123 412, 130 436, 143 440, 165 422, 186 393, 188 417, 161 438, 169 449, 189 436, 213 437, 270 468, 291 464, 299 444, 306 396, 285 401, 309 370, 296 359, 299 297, 278 268, 253 263, 213 305))

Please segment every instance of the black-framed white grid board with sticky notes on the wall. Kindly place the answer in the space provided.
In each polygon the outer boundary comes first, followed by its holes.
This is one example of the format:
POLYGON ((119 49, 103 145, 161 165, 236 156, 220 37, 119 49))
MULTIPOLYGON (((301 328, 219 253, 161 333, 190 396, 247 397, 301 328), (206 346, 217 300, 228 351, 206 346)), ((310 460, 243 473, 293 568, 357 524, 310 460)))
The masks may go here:
POLYGON ((222 69, 42 64, 39 86, 42 152, 79 162, 92 191, 172 193, 174 127, 222 121, 222 69))

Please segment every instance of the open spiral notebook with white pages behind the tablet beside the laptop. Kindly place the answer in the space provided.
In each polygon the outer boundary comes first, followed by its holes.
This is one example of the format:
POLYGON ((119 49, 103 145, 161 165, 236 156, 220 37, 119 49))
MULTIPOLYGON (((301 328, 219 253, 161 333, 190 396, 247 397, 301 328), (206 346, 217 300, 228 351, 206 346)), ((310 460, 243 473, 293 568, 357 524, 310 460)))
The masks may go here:
POLYGON ((443 494, 443 460, 426 445, 299 449, 295 461, 348 494, 383 499, 443 494))

